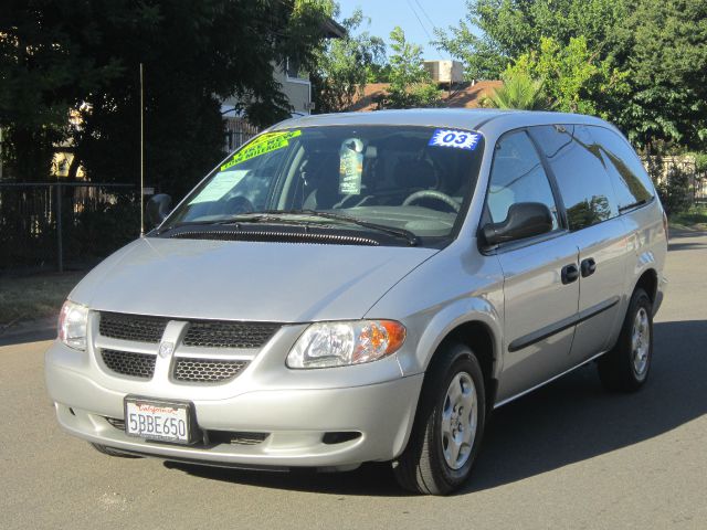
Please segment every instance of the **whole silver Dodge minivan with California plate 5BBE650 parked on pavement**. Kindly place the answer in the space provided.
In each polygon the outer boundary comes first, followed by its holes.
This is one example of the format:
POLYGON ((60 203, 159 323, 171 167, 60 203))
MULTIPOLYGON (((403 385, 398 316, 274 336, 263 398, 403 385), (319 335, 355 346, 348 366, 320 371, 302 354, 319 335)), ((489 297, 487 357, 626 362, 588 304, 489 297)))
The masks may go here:
POLYGON ((666 219, 579 115, 391 110, 278 124, 70 294, 61 425, 115 456, 239 468, 391 462, 443 495, 498 406, 595 361, 648 375, 666 219))

